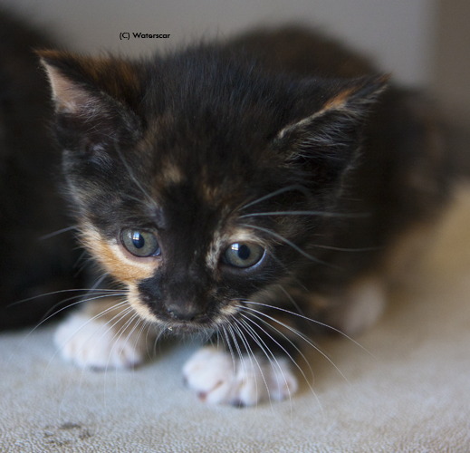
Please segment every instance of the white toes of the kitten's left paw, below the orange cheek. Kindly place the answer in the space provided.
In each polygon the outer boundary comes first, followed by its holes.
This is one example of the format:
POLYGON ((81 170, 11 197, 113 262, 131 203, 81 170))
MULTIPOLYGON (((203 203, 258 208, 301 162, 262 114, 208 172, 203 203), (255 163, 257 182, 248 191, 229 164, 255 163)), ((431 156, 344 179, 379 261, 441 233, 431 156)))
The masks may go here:
POLYGON ((147 342, 146 333, 139 334, 139 327, 130 333, 132 328, 120 330, 112 323, 91 321, 90 316, 76 313, 61 323, 54 342, 65 360, 81 367, 134 367, 144 361, 147 342))

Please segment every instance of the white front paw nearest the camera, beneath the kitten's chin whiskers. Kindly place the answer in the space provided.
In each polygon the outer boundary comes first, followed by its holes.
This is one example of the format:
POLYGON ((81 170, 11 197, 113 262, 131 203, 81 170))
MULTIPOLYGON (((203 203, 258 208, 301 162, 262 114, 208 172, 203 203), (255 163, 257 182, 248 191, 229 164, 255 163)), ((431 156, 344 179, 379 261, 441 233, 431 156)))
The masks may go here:
POLYGON ((253 406, 289 398, 298 387, 287 359, 277 358, 271 365, 265 358, 244 355, 234 366, 229 352, 214 347, 196 352, 183 367, 183 376, 199 399, 211 404, 253 406))

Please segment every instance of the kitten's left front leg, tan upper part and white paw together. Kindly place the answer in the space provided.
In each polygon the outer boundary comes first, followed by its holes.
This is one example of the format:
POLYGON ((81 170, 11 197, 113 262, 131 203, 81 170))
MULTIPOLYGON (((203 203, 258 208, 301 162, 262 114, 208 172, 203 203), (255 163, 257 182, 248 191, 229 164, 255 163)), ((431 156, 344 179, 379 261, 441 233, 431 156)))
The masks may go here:
POLYGON ((119 298, 87 303, 63 321, 54 342, 62 358, 78 366, 134 367, 151 351, 155 333, 119 298))

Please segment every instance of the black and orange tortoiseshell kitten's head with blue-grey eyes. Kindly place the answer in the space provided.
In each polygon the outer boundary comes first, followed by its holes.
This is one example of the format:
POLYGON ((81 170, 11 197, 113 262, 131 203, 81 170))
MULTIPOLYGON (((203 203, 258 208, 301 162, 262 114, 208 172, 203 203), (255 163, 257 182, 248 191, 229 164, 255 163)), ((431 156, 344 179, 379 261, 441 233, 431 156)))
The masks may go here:
POLYGON ((333 210, 385 78, 298 79, 210 46, 40 55, 83 243, 138 313, 214 328, 302 268, 314 278, 309 244, 334 217, 306 213, 333 210))

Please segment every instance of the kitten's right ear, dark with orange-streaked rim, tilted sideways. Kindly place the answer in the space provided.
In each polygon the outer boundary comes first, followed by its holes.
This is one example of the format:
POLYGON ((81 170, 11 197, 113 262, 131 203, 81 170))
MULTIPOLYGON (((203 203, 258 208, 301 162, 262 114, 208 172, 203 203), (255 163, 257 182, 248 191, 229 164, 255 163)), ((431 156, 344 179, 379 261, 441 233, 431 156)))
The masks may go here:
POLYGON ((360 77, 334 87, 320 110, 281 130, 274 140, 289 165, 308 166, 319 182, 333 181, 360 147, 367 115, 389 76, 360 77))

